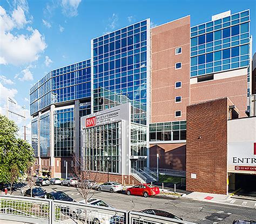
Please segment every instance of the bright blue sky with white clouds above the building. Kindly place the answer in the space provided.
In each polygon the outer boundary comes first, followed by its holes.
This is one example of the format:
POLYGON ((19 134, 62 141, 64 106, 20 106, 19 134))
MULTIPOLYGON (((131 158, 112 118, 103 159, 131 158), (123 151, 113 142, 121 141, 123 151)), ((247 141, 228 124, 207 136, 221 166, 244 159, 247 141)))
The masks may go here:
MULTIPOLYGON (((9 96, 17 101, 17 105, 10 104, 11 110, 23 114, 21 106, 28 109, 25 123, 30 126, 31 85, 52 69, 90 58, 90 40, 106 32, 145 18, 156 26, 187 15, 191 16, 193 26, 210 21, 212 15, 220 12, 250 9, 254 37, 255 5, 255 0, 2 0, 0 113, 6 113, 9 96)), ((21 118, 11 118, 19 126, 24 125, 21 118)))

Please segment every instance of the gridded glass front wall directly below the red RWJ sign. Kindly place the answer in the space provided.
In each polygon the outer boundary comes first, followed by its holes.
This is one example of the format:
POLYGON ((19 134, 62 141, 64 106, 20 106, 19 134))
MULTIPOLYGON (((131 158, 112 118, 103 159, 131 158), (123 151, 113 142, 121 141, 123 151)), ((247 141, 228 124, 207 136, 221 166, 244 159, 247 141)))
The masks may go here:
POLYGON ((120 122, 83 129, 85 169, 120 173, 120 122))

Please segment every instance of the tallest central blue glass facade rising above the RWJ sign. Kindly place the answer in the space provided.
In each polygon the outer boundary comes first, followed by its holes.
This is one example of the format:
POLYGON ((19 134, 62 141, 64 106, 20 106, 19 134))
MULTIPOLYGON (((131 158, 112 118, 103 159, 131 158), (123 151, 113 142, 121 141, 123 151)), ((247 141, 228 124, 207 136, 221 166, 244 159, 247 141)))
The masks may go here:
POLYGON ((150 20, 92 40, 93 112, 130 102, 131 120, 147 124, 150 20))

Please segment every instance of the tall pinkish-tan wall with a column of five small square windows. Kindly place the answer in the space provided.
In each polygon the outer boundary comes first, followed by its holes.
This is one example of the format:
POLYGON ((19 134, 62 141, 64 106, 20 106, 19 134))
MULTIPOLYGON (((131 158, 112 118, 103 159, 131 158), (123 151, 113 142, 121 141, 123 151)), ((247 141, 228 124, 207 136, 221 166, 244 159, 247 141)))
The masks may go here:
POLYGON ((151 123, 184 120, 190 104, 190 16, 152 28, 151 37, 151 123), (175 69, 177 62, 181 69, 175 69), (179 81, 181 88, 175 89, 179 81), (181 103, 175 103, 176 96, 181 96, 181 103), (182 115, 176 118, 179 110, 182 115))

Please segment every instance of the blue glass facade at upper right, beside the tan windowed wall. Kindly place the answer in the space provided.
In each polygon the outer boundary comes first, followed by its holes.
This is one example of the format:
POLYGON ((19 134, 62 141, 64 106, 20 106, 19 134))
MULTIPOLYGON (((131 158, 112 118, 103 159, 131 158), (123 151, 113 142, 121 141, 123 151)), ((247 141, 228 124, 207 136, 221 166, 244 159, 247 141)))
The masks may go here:
POLYGON ((191 28, 191 77, 249 64, 249 10, 191 28))

